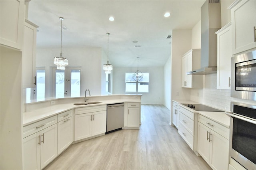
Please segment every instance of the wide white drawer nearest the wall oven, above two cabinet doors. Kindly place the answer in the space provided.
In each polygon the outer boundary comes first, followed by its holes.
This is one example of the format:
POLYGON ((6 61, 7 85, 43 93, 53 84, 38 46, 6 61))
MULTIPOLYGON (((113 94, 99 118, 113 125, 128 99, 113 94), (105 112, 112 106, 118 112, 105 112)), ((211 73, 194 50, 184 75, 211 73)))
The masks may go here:
POLYGON ((229 140, 229 128, 226 128, 202 115, 198 115, 198 122, 201 122, 206 127, 214 130, 215 132, 229 140))

